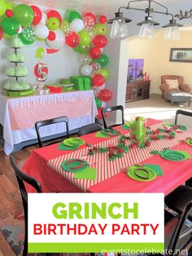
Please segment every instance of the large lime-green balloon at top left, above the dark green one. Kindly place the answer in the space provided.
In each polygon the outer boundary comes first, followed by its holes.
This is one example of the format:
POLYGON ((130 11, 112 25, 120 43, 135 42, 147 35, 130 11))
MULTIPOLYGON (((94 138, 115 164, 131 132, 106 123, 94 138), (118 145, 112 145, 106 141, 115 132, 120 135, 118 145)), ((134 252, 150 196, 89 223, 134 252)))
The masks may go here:
POLYGON ((28 26, 33 21, 34 12, 28 5, 19 4, 15 7, 14 17, 21 26, 28 26))

